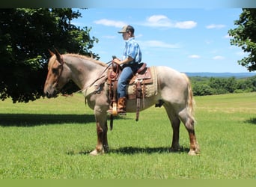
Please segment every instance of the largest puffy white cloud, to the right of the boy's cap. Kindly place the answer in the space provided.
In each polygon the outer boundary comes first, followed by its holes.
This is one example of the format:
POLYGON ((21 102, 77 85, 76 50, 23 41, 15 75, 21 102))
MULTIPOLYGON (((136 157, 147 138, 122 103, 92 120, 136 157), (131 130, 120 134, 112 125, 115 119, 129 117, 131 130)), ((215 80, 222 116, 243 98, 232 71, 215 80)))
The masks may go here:
POLYGON ((153 15, 147 18, 146 22, 143 24, 150 27, 162 27, 162 28, 194 28, 197 22, 194 21, 184 21, 184 22, 174 22, 168 19, 164 15, 153 15))

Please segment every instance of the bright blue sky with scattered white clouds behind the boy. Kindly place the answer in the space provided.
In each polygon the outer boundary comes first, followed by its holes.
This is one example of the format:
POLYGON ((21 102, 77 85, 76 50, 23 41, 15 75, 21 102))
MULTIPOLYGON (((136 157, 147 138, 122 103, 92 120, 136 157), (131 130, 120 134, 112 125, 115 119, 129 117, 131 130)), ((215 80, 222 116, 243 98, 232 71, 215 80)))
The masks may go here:
POLYGON ((73 24, 91 28, 97 37, 93 52, 100 61, 122 57, 124 40, 118 31, 126 24, 135 28, 142 61, 148 66, 167 66, 180 72, 247 72, 237 61, 246 54, 231 46, 228 30, 236 28, 241 8, 89 8, 73 24))

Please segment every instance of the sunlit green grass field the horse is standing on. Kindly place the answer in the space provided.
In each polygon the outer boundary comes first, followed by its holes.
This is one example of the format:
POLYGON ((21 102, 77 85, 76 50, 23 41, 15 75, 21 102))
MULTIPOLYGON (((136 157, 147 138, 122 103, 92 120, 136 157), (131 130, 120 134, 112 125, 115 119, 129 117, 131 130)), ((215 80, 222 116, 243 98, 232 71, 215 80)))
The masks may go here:
POLYGON ((0 179, 256 179, 256 93, 197 96, 200 156, 168 153, 164 108, 114 121, 110 153, 89 156, 97 143, 93 111, 81 94, 12 104, 0 102, 0 179))

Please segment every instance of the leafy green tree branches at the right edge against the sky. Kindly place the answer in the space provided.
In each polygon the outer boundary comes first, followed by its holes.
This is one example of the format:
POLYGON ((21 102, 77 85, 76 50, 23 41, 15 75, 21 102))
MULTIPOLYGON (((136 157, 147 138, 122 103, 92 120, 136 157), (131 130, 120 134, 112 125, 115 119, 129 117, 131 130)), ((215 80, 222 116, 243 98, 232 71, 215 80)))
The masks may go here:
POLYGON ((228 34, 231 38, 231 45, 239 46, 244 52, 249 53, 247 57, 238 61, 238 64, 246 67, 247 70, 256 70, 256 9, 243 8, 240 19, 234 21, 237 28, 230 29, 228 34))

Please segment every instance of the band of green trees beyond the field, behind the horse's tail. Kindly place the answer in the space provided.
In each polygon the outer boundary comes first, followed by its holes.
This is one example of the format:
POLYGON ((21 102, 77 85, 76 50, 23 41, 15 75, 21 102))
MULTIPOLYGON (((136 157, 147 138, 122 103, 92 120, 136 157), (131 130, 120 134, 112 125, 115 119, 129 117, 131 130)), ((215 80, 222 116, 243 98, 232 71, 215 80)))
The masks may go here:
POLYGON ((235 77, 190 77, 194 96, 243 93, 256 91, 256 76, 243 79, 235 77))

